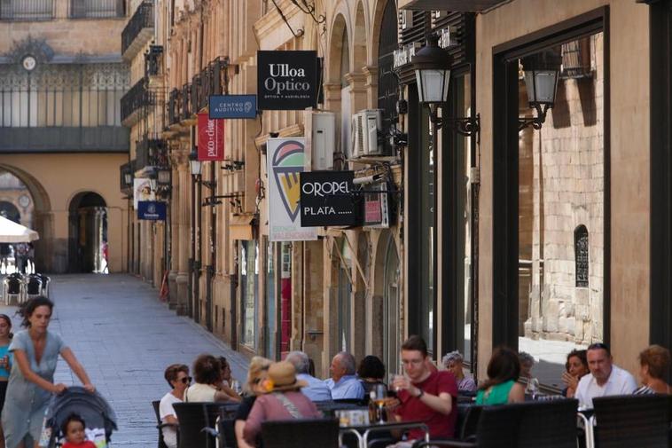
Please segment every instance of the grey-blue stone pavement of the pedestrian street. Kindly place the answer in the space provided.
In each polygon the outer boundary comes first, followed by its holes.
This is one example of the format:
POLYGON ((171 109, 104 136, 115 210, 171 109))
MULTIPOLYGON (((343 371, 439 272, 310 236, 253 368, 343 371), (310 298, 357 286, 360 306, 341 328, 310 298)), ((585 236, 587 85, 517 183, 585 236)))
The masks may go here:
MULTIPOLYGON (((157 445, 152 400, 168 391, 167 365, 191 367, 200 353, 212 353, 229 359, 234 377, 245 379, 245 358, 189 318, 176 316, 155 289, 132 276, 53 276, 51 298, 56 303, 51 331, 63 336, 117 413, 112 446, 157 445)), ((11 308, 0 306, 0 312, 13 317, 11 308)), ((15 331, 19 324, 14 317, 15 331)), ((63 360, 55 380, 79 384, 63 360)))

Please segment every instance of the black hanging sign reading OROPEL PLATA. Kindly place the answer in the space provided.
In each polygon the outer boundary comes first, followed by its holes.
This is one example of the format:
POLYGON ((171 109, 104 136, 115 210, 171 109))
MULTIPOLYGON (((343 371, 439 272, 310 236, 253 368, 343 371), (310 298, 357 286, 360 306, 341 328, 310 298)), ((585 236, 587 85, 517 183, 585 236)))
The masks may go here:
POLYGON ((301 173, 301 225, 356 225, 355 171, 301 173))

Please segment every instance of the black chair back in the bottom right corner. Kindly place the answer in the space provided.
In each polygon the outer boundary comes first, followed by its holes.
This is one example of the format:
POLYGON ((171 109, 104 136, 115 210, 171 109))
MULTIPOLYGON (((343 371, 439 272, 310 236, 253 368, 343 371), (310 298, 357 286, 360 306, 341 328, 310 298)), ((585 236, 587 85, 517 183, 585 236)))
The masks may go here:
POLYGON ((598 448, 667 448, 669 431, 668 397, 627 395, 593 398, 593 429, 598 448))

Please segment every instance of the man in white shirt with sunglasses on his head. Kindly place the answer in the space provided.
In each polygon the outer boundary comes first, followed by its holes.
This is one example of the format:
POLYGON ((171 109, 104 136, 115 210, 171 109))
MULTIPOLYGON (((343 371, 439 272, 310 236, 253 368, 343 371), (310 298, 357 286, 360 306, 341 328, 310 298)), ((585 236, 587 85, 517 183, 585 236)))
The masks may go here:
POLYGON ((580 406, 591 409, 595 397, 629 395, 637 389, 635 378, 626 370, 612 364, 612 354, 606 344, 591 344, 586 356, 590 374, 582 377, 574 395, 580 406))

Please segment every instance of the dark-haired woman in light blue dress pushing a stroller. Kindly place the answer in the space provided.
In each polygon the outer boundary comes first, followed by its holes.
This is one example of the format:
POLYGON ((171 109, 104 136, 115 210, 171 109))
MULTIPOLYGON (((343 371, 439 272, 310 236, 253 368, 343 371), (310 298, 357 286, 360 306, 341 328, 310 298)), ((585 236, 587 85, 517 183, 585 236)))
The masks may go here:
POLYGON ((2 414, 7 448, 37 448, 51 394, 66 389, 65 384, 53 382, 59 355, 82 381, 84 389, 95 390, 73 351, 59 334, 47 330, 53 307, 49 299, 35 297, 19 310, 27 329, 14 334, 9 348, 14 364, 2 414))

